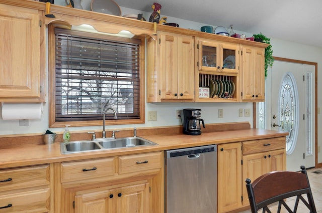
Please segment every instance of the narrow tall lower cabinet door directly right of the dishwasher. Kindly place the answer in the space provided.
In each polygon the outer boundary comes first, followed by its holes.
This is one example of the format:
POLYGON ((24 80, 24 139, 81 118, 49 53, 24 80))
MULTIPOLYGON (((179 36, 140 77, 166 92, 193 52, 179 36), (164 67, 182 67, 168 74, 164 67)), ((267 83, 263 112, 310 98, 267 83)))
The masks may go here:
POLYGON ((241 142, 218 145, 218 213, 241 207, 241 142))

